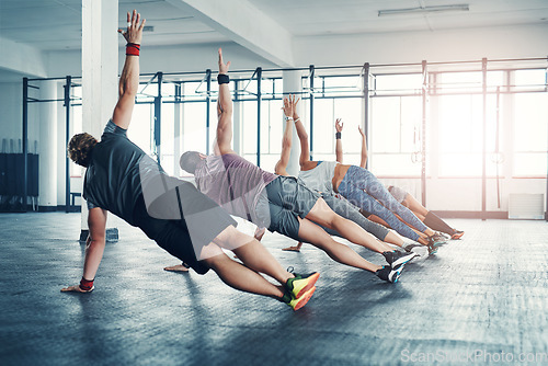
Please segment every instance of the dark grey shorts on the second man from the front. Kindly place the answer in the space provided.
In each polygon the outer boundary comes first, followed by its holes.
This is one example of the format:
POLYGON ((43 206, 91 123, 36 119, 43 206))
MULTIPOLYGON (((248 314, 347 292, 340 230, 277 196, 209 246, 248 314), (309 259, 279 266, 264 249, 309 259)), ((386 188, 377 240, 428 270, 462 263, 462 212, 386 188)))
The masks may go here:
POLYGON ((312 209, 320 195, 294 176, 278 176, 266 185, 256 204, 256 214, 271 231, 299 240, 299 220, 312 209))

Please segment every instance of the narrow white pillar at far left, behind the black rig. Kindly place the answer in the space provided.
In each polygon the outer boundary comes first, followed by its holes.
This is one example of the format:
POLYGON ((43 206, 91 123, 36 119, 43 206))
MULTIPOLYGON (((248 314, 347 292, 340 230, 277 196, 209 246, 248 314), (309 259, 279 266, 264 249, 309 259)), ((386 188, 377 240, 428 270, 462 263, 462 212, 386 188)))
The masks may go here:
MULTIPOLYGON (((41 99, 57 99, 57 81, 43 81, 41 99)), ((39 103, 39 196, 41 209, 57 209, 57 104, 39 103)), ((61 175, 62 176, 62 175, 61 175)))

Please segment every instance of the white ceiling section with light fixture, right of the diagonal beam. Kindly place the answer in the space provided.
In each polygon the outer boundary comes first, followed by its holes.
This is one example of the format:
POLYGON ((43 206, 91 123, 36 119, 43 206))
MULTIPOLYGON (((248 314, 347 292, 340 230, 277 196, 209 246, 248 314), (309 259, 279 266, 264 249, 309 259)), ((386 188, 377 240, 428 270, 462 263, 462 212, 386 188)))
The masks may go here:
POLYGON ((441 31, 547 22, 548 0, 250 0, 296 36, 441 31), (469 4, 469 11, 378 16, 379 10, 469 4), (544 19, 543 19, 544 18, 544 19))

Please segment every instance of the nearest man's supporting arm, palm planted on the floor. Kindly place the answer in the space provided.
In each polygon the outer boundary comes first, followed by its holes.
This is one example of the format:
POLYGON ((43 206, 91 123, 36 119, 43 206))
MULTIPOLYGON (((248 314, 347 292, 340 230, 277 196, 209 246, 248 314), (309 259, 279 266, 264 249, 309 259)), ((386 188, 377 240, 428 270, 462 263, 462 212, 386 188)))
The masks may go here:
POLYGON ((93 281, 98 272, 105 247, 106 210, 95 207, 88 215, 90 235, 85 241, 85 259, 83 274, 79 285, 62 288, 61 291, 90 293, 93 290, 93 281))

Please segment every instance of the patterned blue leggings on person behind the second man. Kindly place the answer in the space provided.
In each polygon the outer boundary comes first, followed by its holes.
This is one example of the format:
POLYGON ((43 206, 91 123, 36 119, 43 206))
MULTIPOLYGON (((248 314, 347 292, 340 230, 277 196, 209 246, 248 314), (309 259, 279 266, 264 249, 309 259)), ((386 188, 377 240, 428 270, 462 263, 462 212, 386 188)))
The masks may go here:
POLYGON ((366 169, 352 165, 339 185, 339 193, 349 199, 351 204, 384 219, 403 237, 415 241, 420 238, 410 227, 401 222, 395 214, 419 231, 424 232, 426 230, 426 226, 409 208, 400 205, 383 183, 366 169))

